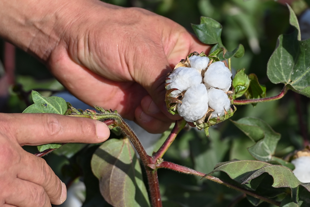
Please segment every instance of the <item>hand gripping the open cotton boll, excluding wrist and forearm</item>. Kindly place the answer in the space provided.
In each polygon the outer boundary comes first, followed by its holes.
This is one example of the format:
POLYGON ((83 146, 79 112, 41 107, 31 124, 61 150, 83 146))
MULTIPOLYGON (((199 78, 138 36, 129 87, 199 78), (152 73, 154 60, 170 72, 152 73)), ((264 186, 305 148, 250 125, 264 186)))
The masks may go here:
POLYGON ((73 23, 70 38, 51 52, 53 74, 86 103, 117 109, 151 133, 165 131, 180 118, 166 110, 166 74, 190 52, 208 47, 174 21, 144 9, 91 4, 80 11, 82 20, 73 23))

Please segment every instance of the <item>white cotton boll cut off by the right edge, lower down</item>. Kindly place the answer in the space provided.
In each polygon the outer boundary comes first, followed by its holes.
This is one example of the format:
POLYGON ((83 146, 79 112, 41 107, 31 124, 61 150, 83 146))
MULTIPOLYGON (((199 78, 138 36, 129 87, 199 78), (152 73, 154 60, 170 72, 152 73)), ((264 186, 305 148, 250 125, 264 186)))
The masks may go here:
POLYGON ((310 182, 310 157, 303 156, 292 160, 295 165, 294 175, 300 182, 310 182))

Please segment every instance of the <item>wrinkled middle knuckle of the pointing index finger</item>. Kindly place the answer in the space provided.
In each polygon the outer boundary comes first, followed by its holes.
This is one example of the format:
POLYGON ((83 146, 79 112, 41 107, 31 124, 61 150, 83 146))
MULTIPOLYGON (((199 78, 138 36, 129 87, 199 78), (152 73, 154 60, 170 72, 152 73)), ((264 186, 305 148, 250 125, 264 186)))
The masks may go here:
POLYGON ((49 136, 57 136, 61 132, 61 123, 57 115, 42 114, 44 129, 49 136))

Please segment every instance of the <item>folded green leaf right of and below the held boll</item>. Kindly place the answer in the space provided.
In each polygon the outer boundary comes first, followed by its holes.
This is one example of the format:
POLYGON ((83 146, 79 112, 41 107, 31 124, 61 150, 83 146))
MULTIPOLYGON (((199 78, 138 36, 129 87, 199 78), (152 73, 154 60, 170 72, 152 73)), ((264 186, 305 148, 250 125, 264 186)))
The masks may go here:
POLYGON ((242 132, 256 142, 248 148, 250 154, 257 160, 270 161, 277 147, 281 135, 263 120, 254 117, 245 117, 232 121, 242 132))

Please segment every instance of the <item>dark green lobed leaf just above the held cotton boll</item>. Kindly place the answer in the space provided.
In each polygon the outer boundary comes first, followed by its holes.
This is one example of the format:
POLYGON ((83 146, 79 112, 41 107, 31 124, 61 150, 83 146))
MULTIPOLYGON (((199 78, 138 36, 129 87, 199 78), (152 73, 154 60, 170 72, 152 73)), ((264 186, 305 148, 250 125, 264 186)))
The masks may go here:
POLYGON ((221 40, 222 25, 219 22, 202 16, 200 18, 200 25, 192 24, 192 28, 201 42, 223 45, 221 40))

